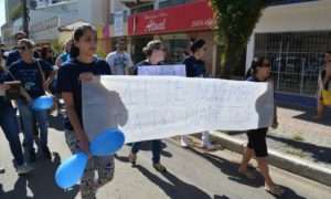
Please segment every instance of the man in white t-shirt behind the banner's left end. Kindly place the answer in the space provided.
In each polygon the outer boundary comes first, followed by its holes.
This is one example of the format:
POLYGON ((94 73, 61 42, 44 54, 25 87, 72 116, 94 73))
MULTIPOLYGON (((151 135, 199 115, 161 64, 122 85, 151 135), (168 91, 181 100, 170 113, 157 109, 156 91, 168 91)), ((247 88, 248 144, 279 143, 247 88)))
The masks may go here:
POLYGON ((107 55, 106 62, 109 64, 113 75, 128 75, 129 69, 134 66, 131 56, 125 52, 125 41, 119 40, 116 51, 107 55))

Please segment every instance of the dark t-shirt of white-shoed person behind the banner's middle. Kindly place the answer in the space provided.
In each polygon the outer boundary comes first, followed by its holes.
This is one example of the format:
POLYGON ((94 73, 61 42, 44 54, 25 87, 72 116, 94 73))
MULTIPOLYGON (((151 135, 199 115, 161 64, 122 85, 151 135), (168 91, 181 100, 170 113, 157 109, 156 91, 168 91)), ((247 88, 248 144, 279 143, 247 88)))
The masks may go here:
POLYGON ((204 61, 189 56, 183 61, 186 67, 186 77, 203 77, 206 74, 204 61))

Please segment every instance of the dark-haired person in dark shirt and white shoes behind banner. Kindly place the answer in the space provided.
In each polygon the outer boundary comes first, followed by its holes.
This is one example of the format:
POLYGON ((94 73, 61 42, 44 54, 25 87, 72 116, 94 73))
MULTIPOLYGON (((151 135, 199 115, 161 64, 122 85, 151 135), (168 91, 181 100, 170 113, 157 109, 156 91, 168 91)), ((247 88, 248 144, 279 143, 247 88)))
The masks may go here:
MULTIPOLYGON (((206 69, 203 57, 205 55, 206 46, 204 40, 194 40, 191 44, 192 55, 186 57, 183 62, 186 67, 186 77, 206 77, 206 69)), ((210 140, 210 133, 203 132, 202 136, 202 147, 206 150, 214 150, 221 146, 212 145, 210 140)), ((181 136, 181 146, 189 147, 190 139, 188 136, 181 136)))

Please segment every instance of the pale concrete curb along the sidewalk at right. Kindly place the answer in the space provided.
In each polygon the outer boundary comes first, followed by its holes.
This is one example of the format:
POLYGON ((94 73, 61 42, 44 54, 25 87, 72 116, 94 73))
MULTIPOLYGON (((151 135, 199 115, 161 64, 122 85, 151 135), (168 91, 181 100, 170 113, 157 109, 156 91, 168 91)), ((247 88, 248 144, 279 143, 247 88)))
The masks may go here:
MULTIPOLYGON (((238 154, 243 153, 246 144, 244 140, 238 140, 218 132, 211 132, 211 136, 223 147, 238 154)), ((268 154, 270 165, 331 187, 331 169, 273 149, 269 149, 268 154)))

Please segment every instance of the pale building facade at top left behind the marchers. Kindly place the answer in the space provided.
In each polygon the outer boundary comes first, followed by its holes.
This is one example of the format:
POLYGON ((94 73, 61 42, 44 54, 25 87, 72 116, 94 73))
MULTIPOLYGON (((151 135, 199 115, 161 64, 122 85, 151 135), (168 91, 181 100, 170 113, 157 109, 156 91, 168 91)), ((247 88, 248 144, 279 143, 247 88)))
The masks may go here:
MULTIPOLYGON (((12 0, 7 0, 6 8, 7 10, 15 8, 12 0)), ((63 43, 71 34, 66 33, 66 38, 63 36, 58 28, 83 21, 96 27, 99 54, 106 54, 110 49, 108 25, 110 0, 31 0, 29 10, 30 38, 38 44, 50 44, 58 39, 63 43)), ((10 11, 7 14, 10 18, 10 11)), ((3 43, 7 46, 15 45, 14 33, 19 30, 22 30, 21 17, 14 21, 8 20, 1 28, 3 43)))

